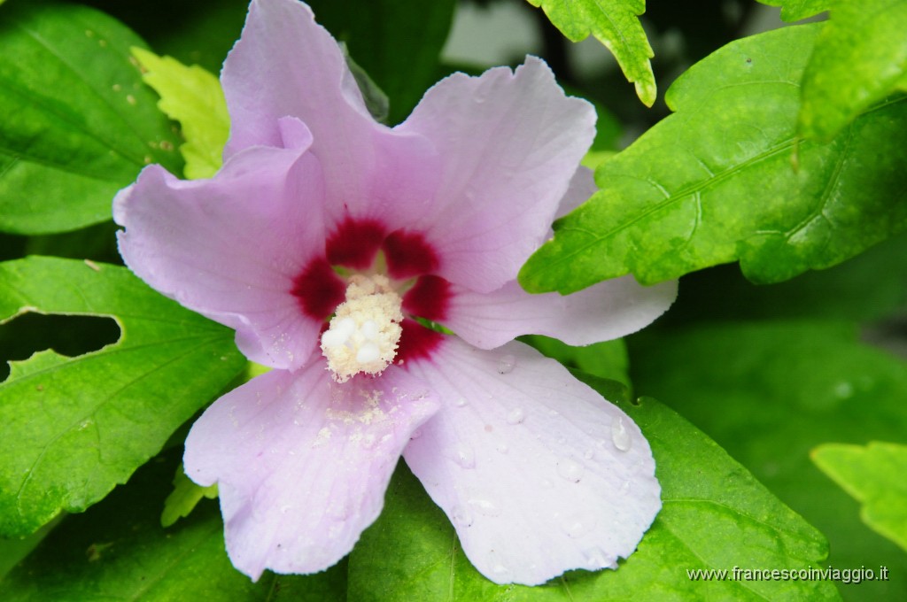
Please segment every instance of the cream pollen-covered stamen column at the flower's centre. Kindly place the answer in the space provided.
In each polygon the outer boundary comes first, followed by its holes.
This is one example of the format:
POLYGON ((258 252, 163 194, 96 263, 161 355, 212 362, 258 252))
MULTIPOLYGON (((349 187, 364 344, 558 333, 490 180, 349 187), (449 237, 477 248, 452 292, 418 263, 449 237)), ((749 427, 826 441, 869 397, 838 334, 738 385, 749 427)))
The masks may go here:
POLYGON ((337 383, 355 374, 381 374, 396 356, 403 300, 387 277, 349 277, 346 300, 321 335, 321 353, 337 383))

